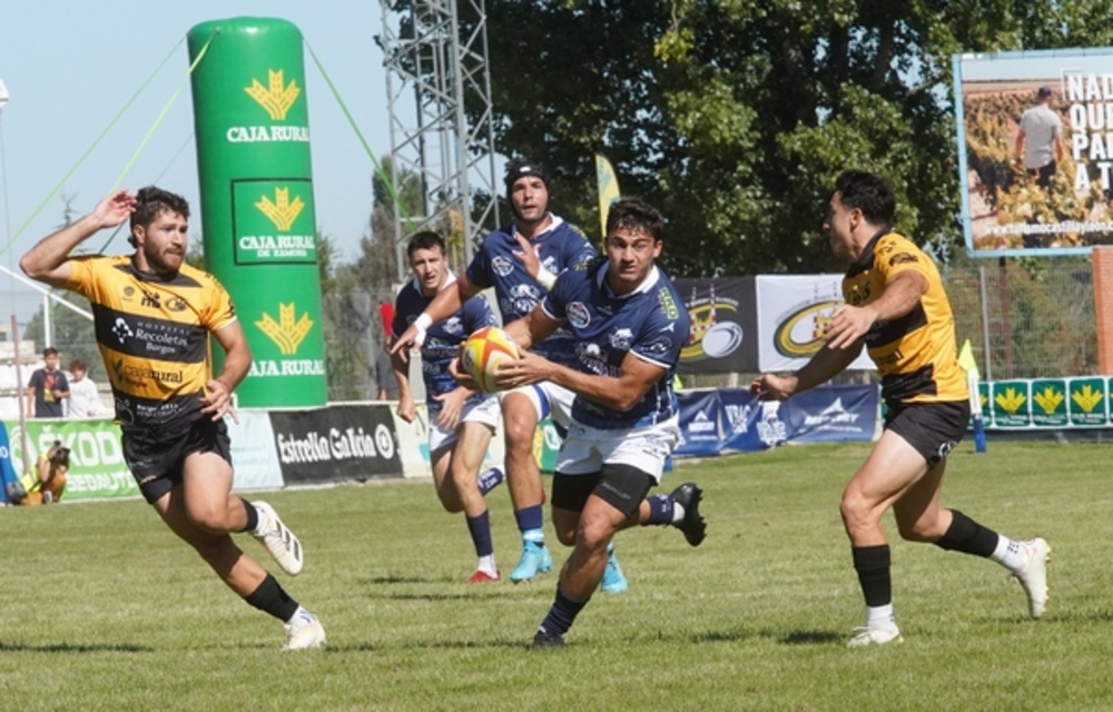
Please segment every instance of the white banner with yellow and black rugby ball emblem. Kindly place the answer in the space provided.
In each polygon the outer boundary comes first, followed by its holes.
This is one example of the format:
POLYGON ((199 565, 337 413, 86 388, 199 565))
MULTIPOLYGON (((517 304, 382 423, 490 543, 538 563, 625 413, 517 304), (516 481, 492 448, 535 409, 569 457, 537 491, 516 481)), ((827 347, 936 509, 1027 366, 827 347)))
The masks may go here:
MULTIPOLYGON (((800 368, 823 346, 824 332, 843 303, 843 275, 761 276, 755 280, 760 330, 756 370, 800 368)), ((849 368, 874 369, 866 349, 849 368)))

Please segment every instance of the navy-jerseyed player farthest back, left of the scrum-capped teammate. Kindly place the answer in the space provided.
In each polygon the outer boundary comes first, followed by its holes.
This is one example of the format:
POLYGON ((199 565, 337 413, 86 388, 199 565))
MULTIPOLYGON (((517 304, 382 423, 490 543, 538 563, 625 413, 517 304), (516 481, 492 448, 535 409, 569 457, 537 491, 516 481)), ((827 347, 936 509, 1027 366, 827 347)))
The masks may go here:
MULTIPOLYGON (((456 279, 449 270, 444 239, 436 233, 414 235, 406 244, 406 254, 414 278, 402 288, 394 303, 393 335, 404 332, 433 297, 451 288, 456 279)), ((464 513, 475 545, 475 573, 467 583, 500 578, 491 540, 491 518, 483 495, 502 482, 503 474, 498 468, 479 474, 491 435, 499 425, 499 399, 456 384, 449 373, 449 363, 456 357, 469 334, 498 324, 486 300, 472 297, 460 312, 432 325, 421 347, 430 418, 429 458, 436 496, 446 512, 464 513)), ((398 417, 412 423, 417 408, 410 388, 410 369, 398 356, 392 356, 392 362, 398 382, 398 417)))

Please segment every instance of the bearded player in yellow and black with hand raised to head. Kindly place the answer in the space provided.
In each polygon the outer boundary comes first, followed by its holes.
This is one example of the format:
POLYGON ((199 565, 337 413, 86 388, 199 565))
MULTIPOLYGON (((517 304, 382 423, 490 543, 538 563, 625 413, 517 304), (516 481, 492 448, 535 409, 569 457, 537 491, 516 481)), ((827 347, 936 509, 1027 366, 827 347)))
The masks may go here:
POLYGON ((91 303, 124 456, 147 502, 233 591, 285 623, 286 649, 317 647, 325 641, 317 617, 229 535, 249 532, 287 573, 302 570, 302 545, 274 508, 232 494, 224 416, 252 352, 228 293, 184 263, 188 219, 189 205, 178 195, 155 187, 138 195, 119 190, 43 238, 19 266, 91 303), (99 230, 129 218, 131 255, 69 256, 99 230), (209 336, 227 354, 215 377, 209 336))

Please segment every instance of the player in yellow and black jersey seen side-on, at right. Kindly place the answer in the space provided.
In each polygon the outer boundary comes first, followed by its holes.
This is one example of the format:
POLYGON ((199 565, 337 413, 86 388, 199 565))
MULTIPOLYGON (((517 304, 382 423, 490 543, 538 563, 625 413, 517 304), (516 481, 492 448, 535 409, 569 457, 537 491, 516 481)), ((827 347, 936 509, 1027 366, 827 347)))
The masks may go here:
POLYGON ((968 392, 939 273, 927 254, 892 230, 895 214, 887 180, 858 170, 839 176, 824 231, 835 255, 850 261, 843 279, 846 303, 805 366, 787 377, 762 374, 750 384, 761 399, 784 400, 847 368, 864 345, 881 376, 885 429, 840 504, 866 600, 866 625, 855 630, 854 647, 903 640, 893 615, 889 545, 881 526, 890 506, 905 540, 1008 568, 1027 594, 1032 617, 1040 617, 1047 600, 1047 542, 1017 542, 939 506, 947 454, 969 421, 968 392))

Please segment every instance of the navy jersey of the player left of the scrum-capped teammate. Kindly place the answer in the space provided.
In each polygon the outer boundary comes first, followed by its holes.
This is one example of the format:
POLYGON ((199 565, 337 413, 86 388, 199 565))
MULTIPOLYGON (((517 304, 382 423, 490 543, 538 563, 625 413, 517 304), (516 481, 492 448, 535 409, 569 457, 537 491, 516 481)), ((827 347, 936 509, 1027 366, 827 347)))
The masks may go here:
MULTIPOLYGON (((394 337, 401 336, 432 300, 433 297, 423 295, 417 281, 411 279, 394 300, 394 323, 391 325, 394 337)), ((441 411, 441 402, 434 400, 433 396, 455 390, 460 385, 449 373, 449 363, 456 357, 460 345, 467 336, 484 326, 499 326, 499 318, 486 299, 476 296, 465 301, 459 312, 433 324, 425 332, 425 342, 421 347, 422 378, 425 380, 425 404, 431 414, 441 411)), ((481 400, 484 397, 486 396, 480 393, 469 400, 481 400)))

